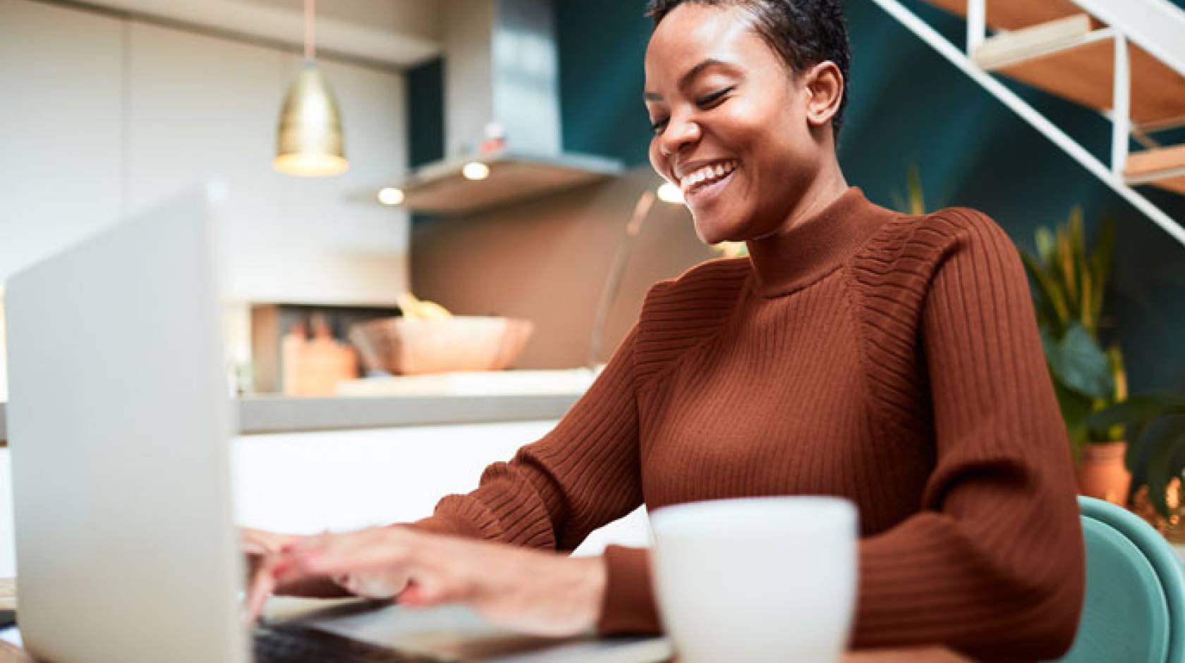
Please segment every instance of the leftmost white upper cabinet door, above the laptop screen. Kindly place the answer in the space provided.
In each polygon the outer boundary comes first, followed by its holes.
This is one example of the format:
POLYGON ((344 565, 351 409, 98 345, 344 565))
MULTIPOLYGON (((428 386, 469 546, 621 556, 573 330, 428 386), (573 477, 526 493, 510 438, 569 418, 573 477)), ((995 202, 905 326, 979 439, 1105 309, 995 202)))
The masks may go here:
POLYGON ((120 218, 122 32, 0 0, 0 282, 120 218))

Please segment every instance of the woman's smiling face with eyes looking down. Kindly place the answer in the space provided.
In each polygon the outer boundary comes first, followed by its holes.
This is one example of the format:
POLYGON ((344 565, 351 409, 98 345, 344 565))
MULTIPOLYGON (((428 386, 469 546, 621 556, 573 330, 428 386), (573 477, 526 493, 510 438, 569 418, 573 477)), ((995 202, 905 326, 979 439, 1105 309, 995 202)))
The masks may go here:
MULTIPOLYGON (((737 7, 680 5, 646 50, 654 169, 707 244, 782 226, 818 170, 809 90, 737 7)), ((828 131, 830 127, 825 127, 828 131)))

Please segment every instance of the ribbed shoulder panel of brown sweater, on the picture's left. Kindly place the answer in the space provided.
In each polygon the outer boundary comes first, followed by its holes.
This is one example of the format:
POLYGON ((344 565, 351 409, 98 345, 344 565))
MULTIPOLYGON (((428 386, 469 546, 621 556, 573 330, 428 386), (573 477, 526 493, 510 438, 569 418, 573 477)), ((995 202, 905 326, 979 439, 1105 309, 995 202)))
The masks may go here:
POLYGON ((653 380, 675 358, 723 329, 751 273, 748 258, 719 258, 651 287, 634 345, 636 385, 653 380))

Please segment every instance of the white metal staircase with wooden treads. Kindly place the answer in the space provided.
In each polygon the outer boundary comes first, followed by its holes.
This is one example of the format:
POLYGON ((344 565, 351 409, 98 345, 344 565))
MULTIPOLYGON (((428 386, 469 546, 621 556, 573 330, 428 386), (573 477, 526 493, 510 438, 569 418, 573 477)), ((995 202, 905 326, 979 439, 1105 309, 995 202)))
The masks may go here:
POLYGON ((1185 127, 1185 11, 1167 0, 927 0, 966 17, 960 50, 898 0, 872 1, 1185 244, 1185 219, 1133 188, 1185 194, 1185 144, 1149 136, 1185 127), (1110 165, 989 72, 1103 112, 1113 125, 1110 165), (1129 139, 1144 149, 1129 154, 1129 139))

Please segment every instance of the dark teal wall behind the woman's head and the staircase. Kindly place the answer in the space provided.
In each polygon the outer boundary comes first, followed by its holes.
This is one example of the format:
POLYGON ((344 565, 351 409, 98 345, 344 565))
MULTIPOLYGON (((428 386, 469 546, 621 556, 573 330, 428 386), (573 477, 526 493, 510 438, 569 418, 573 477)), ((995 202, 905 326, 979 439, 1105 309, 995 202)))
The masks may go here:
MULTIPOLYGON (((920 0, 905 4, 961 44, 960 19, 920 0)), ((642 0, 556 2, 565 149, 646 163, 643 6, 642 0)), ((1085 210, 1090 227, 1114 218, 1119 238, 1108 308, 1132 387, 1185 388, 1185 246, 871 0, 848 0, 847 7, 853 64, 839 157, 848 181, 891 206, 916 163, 931 208, 982 210, 1030 250, 1035 228, 1064 220, 1074 205, 1085 210)), ((1107 162, 1110 134, 1102 116, 1010 86, 1107 162)), ((1185 197, 1144 193, 1185 221, 1185 197)))

